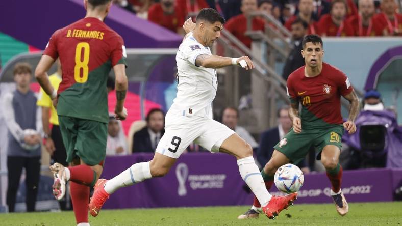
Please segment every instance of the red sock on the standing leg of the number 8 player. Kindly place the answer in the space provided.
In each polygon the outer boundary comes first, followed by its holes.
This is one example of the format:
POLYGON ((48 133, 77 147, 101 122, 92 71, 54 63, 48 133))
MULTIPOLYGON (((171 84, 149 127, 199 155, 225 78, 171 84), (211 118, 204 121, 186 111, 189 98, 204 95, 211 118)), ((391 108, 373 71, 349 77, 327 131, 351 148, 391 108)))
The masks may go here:
POLYGON ((89 187, 70 182, 70 195, 77 224, 88 223, 89 187))

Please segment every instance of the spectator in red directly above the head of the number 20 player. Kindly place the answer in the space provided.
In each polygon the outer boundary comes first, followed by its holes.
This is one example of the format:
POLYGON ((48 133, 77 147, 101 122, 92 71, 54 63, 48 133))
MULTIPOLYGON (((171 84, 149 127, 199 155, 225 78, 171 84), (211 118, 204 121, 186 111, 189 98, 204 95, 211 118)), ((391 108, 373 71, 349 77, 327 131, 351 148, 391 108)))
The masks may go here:
POLYGON ((317 27, 316 27, 315 21, 313 19, 313 11, 314 11, 313 0, 300 0, 297 7, 299 10, 299 13, 297 15, 290 17, 286 21, 285 27, 289 31, 291 31, 293 22, 297 18, 300 18, 301 20, 304 20, 307 22, 307 24, 309 24, 309 29, 307 30, 308 35, 317 34, 317 27))

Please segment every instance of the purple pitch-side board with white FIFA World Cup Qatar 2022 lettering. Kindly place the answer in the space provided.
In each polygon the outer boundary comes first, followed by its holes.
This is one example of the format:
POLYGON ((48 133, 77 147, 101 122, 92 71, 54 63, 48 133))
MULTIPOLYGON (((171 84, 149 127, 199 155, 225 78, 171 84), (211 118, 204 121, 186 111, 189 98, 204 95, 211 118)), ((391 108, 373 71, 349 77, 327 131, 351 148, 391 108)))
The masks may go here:
MULTIPOLYGON (((107 157, 103 178, 110 179, 152 154, 107 157)), ((349 202, 392 201, 392 191, 402 180, 402 170, 345 171, 342 189, 349 202)), ((105 208, 148 208, 251 205, 253 195, 244 190, 234 157, 225 154, 182 155, 164 178, 121 188, 105 208)), ((325 174, 305 175, 297 203, 331 203, 330 183, 325 174)), ((280 195, 273 187, 271 193, 280 195)))

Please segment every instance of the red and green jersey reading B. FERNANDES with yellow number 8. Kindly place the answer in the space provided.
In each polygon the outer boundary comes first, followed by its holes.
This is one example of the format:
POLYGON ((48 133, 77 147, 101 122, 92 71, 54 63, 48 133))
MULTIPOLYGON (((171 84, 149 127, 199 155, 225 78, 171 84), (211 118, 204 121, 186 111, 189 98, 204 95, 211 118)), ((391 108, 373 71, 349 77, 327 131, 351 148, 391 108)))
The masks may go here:
POLYGON ((62 65, 57 114, 108 123, 106 81, 112 67, 125 65, 121 36, 87 17, 57 30, 43 54, 62 65))

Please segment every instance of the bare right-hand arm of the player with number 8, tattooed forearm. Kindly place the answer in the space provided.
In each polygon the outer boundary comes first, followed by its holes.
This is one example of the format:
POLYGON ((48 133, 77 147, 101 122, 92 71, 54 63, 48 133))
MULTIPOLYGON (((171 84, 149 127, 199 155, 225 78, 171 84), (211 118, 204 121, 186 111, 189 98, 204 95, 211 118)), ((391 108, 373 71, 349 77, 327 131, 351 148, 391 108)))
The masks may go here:
POLYGON ((115 90, 116 90, 116 106, 114 108, 115 118, 124 120, 127 117, 127 110, 124 108, 125 94, 127 93, 128 80, 125 76, 125 65, 117 64, 113 67, 116 75, 115 90))

